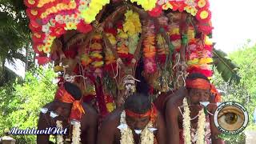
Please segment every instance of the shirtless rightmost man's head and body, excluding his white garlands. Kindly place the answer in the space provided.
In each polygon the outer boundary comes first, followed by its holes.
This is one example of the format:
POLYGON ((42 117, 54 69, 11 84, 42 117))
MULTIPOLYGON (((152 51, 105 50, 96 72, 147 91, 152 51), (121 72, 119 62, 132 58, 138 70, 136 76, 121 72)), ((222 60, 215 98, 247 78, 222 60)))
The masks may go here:
MULTIPOLYGON (((167 127, 167 143, 178 144, 184 143, 183 131, 182 131, 182 108, 183 98, 187 98, 187 102, 190 109, 190 118, 195 118, 203 106, 200 102, 210 102, 206 109, 210 114, 206 114, 206 135, 205 143, 218 144, 222 143, 222 140, 218 138, 218 128, 214 125, 214 111, 217 109, 216 102, 219 101, 220 95, 216 91, 213 85, 210 84, 208 78, 202 74, 190 74, 186 78, 186 88, 181 87, 174 92, 166 102, 166 127, 167 127), (180 110, 179 110, 180 108, 180 110), (209 116, 207 116, 209 115, 209 116), (209 124, 210 122, 210 124, 209 124), (208 132, 208 134, 207 134, 208 132)), ((190 121, 191 130, 195 132, 198 126, 198 118, 190 121)), ((194 134, 193 134, 194 135, 194 134)), ((192 143, 196 140, 191 134, 192 143)))

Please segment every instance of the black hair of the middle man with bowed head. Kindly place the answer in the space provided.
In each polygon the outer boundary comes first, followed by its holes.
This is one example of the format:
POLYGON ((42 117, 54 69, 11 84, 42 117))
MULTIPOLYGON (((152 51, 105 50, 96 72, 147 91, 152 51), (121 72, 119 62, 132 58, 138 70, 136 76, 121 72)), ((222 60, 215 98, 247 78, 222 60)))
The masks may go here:
POLYGON ((132 94, 126 99, 124 106, 126 110, 136 114, 145 114, 151 109, 150 97, 144 94, 132 94))

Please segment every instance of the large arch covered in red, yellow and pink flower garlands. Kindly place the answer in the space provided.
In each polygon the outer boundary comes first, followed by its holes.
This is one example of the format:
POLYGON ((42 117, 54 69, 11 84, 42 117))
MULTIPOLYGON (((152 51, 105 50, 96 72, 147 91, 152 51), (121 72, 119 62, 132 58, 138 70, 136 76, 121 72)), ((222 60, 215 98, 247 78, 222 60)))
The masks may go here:
MULTIPOLYGON (((30 18, 33 48, 39 54, 38 63, 58 60, 59 62, 54 63, 56 65, 54 70, 64 69, 60 64, 62 54, 55 54, 58 46, 63 50, 66 48, 61 46, 62 42, 58 42, 62 39, 60 37, 69 34, 70 31, 76 31, 86 35, 86 40, 82 46, 76 46, 76 49, 73 47, 65 49, 69 64, 77 66, 75 55, 81 49, 77 54, 78 61, 87 72, 89 71, 87 74, 94 79, 92 81, 97 77, 103 78, 106 76, 103 74, 108 73, 109 80, 119 78, 114 83, 118 90, 126 89, 122 84, 123 81, 126 83, 134 81, 133 71, 139 58, 143 61, 145 73, 151 79, 158 78, 160 70, 162 75, 173 74, 166 75, 165 78, 174 76, 179 79, 181 78, 179 74, 184 76, 186 72, 201 73, 209 78, 212 76, 210 70, 210 64, 213 62, 212 42, 208 36, 213 28, 210 22, 209 0, 24 0, 24 2, 27 6, 26 14, 30 18), (118 2, 120 5, 110 6, 118 2), (98 20, 98 15, 101 14, 103 16, 98 20), (184 15, 186 17, 183 19, 184 15), (172 22, 170 17, 176 18, 176 21, 172 22), (110 19, 114 22, 111 23, 110 19), (149 22, 145 22, 146 20, 149 22), (112 27, 108 27, 109 23, 112 27), (102 27, 98 28, 98 26, 102 27), (176 57, 178 54, 181 58, 176 57), (179 62, 180 59, 182 62, 179 62), (127 74, 124 74, 124 71, 127 74)), ((72 66, 70 69, 73 68, 72 66)), ((80 67, 74 67, 72 72, 80 75, 79 70, 80 67)), ((174 82, 174 79, 163 82, 169 84, 174 82)), ((91 87, 91 90, 87 91, 93 91, 94 86, 87 87, 91 87)), ((97 95, 102 98, 99 106, 103 106, 100 109, 104 115, 107 105, 104 108, 103 96, 106 96, 106 93, 104 95, 103 90, 100 90, 102 86, 98 86, 97 89, 97 95)), ((111 102, 106 101, 106 103, 111 102)))

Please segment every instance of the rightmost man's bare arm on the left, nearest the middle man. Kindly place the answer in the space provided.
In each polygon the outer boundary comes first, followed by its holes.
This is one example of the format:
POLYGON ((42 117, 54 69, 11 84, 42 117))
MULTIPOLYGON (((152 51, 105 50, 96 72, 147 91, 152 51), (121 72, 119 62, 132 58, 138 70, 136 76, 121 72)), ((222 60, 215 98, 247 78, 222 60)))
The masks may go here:
POLYGON ((166 103, 166 129, 167 129, 167 142, 168 144, 179 143, 179 130, 178 130, 178 110, 174 107, 172 102, 166 103))

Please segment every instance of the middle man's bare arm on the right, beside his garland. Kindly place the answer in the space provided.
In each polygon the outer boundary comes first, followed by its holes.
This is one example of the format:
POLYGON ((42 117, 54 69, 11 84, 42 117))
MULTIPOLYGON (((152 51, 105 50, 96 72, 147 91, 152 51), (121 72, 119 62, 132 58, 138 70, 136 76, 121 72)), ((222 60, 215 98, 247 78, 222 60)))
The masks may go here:
POLYGON ((157 128, 158 128, 158 144, 166 144, 166 123, 162 117, 162 114, 158 113, 157 119, 157 128))

